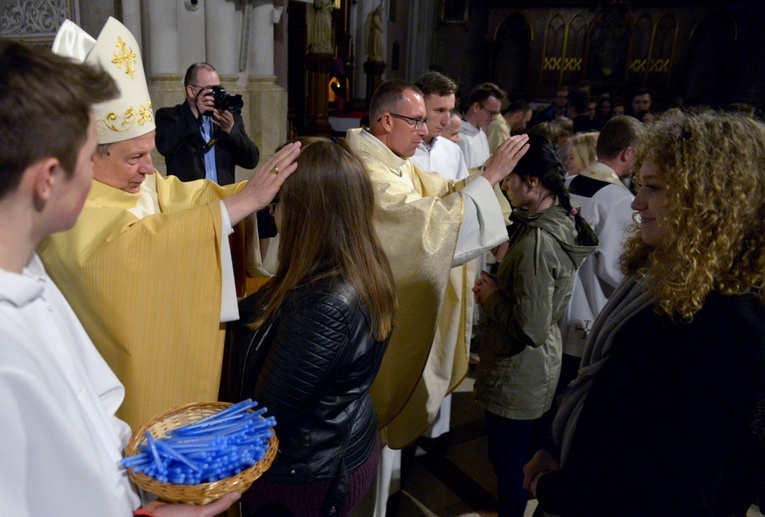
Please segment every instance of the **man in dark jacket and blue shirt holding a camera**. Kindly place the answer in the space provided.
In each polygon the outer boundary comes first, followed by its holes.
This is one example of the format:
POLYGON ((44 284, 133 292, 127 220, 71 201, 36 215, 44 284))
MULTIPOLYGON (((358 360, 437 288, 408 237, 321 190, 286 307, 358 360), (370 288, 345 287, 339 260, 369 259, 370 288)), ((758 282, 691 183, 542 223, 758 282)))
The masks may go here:
POLYGON ((207 63, 191 65, 183 85, 186 102, 156 113, 157 150, 165 157, 167 174, 181 181, 233 183, 237 165, 254 169, 259 158, 244 130, 241 97, 226 94, 218 72, 207 63))

